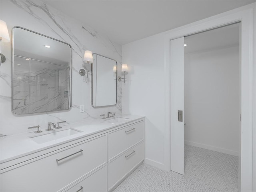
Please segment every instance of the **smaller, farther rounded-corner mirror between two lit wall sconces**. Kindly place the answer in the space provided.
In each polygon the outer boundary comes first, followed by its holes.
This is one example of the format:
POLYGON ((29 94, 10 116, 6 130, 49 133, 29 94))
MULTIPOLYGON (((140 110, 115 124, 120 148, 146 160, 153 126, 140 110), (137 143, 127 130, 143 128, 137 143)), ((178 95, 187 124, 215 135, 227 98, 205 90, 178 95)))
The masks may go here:
POLYGON ((116 60, 100 54, 93 54, 92 107, 100 108, 116 105, 116 69, 116 60))

